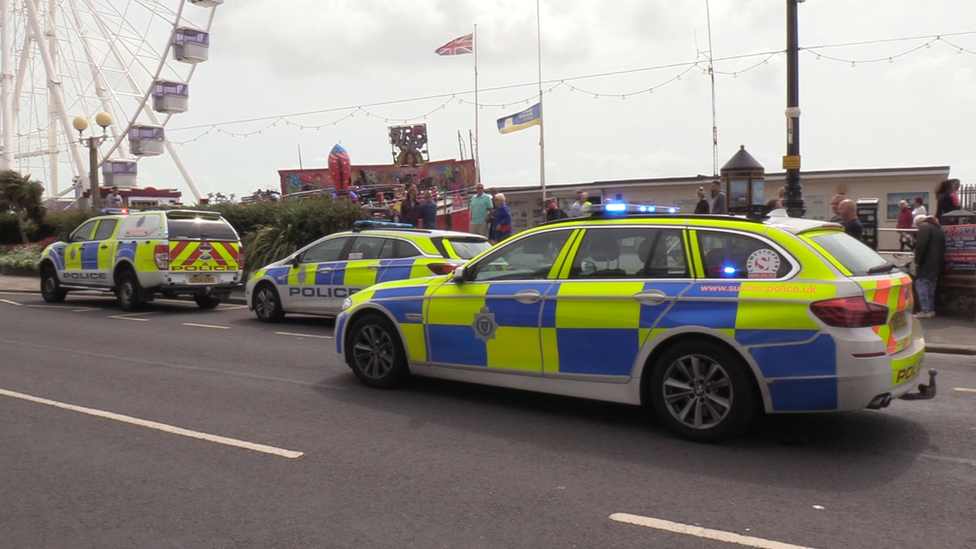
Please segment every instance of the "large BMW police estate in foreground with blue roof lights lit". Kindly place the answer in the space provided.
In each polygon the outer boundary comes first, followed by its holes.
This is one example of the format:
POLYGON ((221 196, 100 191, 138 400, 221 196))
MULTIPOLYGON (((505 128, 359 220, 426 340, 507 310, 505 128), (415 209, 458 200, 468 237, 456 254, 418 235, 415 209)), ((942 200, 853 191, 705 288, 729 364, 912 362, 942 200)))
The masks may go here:
POLYGON ((763 410, 935 396, 910 278, 840 225, 655 210, 611 203, 372 286, 343 303, 337 351, 370 387, 415 374, 644 405, 702 441, 763 410))

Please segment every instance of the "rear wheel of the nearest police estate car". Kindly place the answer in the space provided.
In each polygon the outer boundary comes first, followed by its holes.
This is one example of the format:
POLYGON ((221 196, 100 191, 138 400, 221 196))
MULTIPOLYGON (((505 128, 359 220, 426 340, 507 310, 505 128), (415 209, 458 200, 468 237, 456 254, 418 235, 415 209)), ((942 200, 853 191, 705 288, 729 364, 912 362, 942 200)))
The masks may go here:
POLYGON ((742 358, 714 341, 683 341, 654 365, 654 413, 676 435, 720 442, 742 433, 756 414, 756 387, 742 358))

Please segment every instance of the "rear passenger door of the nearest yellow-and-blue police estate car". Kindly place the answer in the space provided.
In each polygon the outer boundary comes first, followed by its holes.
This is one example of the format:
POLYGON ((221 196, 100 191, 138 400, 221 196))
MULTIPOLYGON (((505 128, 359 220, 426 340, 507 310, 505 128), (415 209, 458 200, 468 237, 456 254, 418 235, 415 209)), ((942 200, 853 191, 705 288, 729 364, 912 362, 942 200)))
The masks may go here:
POLYGON ((693 283, 679 228, 588 228, 542 318, 545 375, 630 379, 661 316, 693 283))

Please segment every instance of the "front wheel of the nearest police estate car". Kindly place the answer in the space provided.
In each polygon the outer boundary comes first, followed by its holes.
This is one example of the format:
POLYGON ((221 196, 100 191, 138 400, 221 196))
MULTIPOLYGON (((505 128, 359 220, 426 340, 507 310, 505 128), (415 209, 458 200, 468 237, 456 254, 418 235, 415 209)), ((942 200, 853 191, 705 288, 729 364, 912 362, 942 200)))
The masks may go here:
POLYGON ((386 318, 369 314, 349 330, 346 362, 363 385, 392 389, 410 376, 407 354, 396 328, 386 318))

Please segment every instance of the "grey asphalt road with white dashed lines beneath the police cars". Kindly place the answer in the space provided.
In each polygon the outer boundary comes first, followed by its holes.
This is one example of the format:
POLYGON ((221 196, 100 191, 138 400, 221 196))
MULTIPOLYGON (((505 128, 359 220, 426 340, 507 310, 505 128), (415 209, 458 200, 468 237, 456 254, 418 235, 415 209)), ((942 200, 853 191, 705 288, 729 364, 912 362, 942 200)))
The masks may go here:
POLYGON ((933 401, 702 445, 627 406, 369 390, 332 329, 0 295, 0 547, 976 548, 972 357, 927 358, 933 401))

